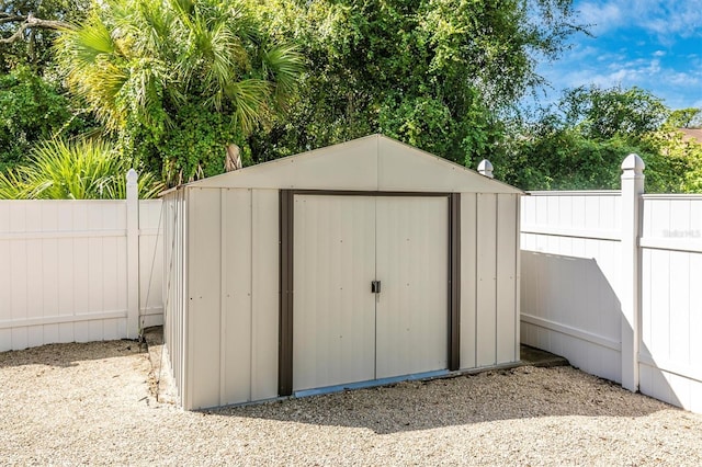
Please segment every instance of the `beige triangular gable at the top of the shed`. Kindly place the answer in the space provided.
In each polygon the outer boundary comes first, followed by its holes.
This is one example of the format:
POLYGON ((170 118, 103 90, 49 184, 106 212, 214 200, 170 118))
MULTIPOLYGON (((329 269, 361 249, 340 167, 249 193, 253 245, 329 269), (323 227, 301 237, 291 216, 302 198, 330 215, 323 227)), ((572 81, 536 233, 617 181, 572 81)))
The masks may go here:
POLYGON ((193 187, 522 193, 383 135, 372 135, 191 183, 193 187))

